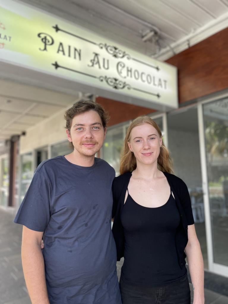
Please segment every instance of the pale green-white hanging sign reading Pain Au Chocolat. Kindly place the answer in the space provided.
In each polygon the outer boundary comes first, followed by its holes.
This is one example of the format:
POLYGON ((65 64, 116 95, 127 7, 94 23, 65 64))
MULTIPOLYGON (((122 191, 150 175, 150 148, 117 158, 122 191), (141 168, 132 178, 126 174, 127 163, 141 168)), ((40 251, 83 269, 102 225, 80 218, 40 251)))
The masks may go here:
POLYGON ((97 95, 178 107, 176 67, 13 0, 0 0, 0 60, 96 88, 97 95))

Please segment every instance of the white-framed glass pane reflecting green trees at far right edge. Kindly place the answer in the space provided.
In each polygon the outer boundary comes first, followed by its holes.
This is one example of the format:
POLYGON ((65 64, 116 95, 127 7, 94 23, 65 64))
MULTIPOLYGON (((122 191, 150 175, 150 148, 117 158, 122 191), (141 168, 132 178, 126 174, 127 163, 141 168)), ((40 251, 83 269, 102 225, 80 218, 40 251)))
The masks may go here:
POLYGON ((228 98, 203 105, 214 263, 228 266, 228 98))

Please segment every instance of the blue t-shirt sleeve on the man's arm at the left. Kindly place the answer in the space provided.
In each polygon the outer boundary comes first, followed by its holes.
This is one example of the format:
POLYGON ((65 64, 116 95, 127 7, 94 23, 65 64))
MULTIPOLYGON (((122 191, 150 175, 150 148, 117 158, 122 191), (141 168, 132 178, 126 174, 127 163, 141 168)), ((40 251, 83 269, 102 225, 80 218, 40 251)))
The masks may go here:
POLYGON ((14 222, 35 231, 45 231, 50 219, 51 187, 36 171, 14 222))

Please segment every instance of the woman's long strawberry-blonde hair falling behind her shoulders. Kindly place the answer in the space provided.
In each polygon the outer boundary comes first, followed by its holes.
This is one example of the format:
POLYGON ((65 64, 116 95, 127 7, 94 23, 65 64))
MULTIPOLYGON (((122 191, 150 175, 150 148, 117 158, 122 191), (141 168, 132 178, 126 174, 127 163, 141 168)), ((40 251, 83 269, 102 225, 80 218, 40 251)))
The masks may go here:
MULTIPOLYGON (((143 125, 144 123, 149 123, 151 126, 153 126, 157 130, 160 138, 162 138, 161 130, 159 126, 149 116, 143 115, 134 119, 127 129, 126 137, 124 139, 124 146, 120 159, 120 169, 119 169, 120 174, 124 174, 126 172, 130 172, 136 169, 136 158, 134 154, 130 152, 127 143, 130 141, 131 130, 136 126, 143 125)), ((165 171, 168 173, 172 172, 172 160, 169 155, 168 149, 164 146, 163 140, 162 140, 162 148, 160 149, 160 154, 157 159, 157 168, 161 171, 165 171)))

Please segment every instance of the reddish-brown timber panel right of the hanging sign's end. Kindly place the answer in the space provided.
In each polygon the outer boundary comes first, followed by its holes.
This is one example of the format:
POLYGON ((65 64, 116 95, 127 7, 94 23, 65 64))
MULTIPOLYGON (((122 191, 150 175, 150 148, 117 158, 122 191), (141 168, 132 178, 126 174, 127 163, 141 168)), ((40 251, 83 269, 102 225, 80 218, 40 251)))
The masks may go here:
POLYGON ((178 68, 179 103, 228 88, 228 28, 166 60, 178 68))

